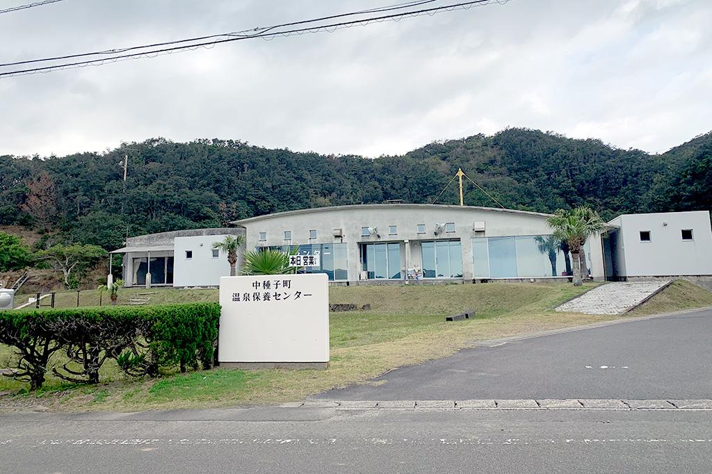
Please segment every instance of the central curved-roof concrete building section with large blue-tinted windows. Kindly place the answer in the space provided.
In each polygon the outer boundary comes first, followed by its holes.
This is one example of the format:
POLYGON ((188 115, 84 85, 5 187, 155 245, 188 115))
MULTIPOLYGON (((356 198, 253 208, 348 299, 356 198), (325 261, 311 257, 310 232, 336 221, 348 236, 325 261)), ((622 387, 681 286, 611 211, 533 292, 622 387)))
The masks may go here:
MULTIPOLYGON (((280 212, 235 221, 246 247, 320 255, 335 282, 566 278, 567 256, 550 238, 550 214, 440 204, 361 204, 280 212)), ((587 243, 604 278, 600 236, 587 243)))

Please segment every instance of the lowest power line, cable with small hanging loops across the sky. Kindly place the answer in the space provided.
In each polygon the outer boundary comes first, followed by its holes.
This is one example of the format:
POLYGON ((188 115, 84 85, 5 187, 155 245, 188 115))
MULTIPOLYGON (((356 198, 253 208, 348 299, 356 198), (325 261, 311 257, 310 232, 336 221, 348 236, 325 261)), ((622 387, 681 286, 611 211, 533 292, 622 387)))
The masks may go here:
MULTIPOLYGON (((58 64, 58 65, 49 65, 49 66, 43 66, 40 68, 30 68, 30 69, 23 69, 23 70, 11 70, 6 73, 0 73, 0 78, 3 77, 10 77, 14 75, 28 75, 28 74, 37 74, 37 73, 48 73, 51 72, 52 70, 63 70, 63 69, 70 69, 70 68, 82 68, 86 67, 88 65, 104 65, 106 63, 115 63, 120 60, 130 60, 130 59, 139 59, 139 58, 154 58, 156 56, 163 56, 165 54, 172 54, 172 53, 178 53, 178 52, 184 52, 184 51, 195 51, 198 48, 206 48, 210 49, 213 48, 216 45, 219 45, 221 43, 229 43, 232 41, 241 41, 241 40, 246 40, 246 39, 253 39, 253 38, 263 38, 267 41, 271 41, 274 38, 277 38, 278 36, 282 37, 289 37, 289 36, 294 36, 296 34, 302 35, 304 33, 320 33, 323 31, 328 31, 329 33, 333 33, 334 31, 342 28, 351 28, 352 26, 367 26, 370 23, 382 23, 383 21, 399 21, 401 19, 407 18, 407 17, 416 17, 416 16, 422 16, 422 15, 429 15, 433 16, 434 14, 440 13, 441 11, 454 11, 454 10, 461 10, 461 9, 470 9, 473 6, 483 6, 486 4, 490 4, 493 2, 496 2, 497 4, 506 4, 508 3, 509 0, 473 0, 473 1, 465 1, 461 2, 459 4, 449 4, 445 6, 437 6, 434 8, 430 9, 420 9, 420 10, 414 10, 414 11, 406 11, 402 12, 399 14, 390 14, 390 15, 384 15, 384 16, 375 16, 375 17, 370 17, 367 19, 357 19, 357 20, 352 20, 352 21, 343 21, 339 23, 330 23, 326 25, 320 25, 320 26, 311 26, 311 27, 306 27, 306 28, 294 28, 286 31, 276 31, 276 32, 271 32, 275 28, 280 28, 280 26, 271 26, 269 28, 257 28, 259 31, 254 34, 250 35, 240 35, 236 36, 236 33, 224 33, 222 35, 214 35, 211 37, 222 37, 222 36, 233 36, 229 38, 224 38, 224 39, 217 39, 215 41, 207 41, 207 42, 201 42, 201 43, 194 43, 190 44, 187 46, 176 46, 172 48, 162 48, 162 49, 157 49, 157 50, 152 50, 152 51, 142 51, 139 53, 130 53, 126 55, 120 55, 120 56, 113 56, 111 58, 100 58, 100 59, 95 59, 95 60, 84 60, 84 61, 78 61, 75 63, 64 63, 64 64, 58 64)), ((349 15, 349 14, 345 14, 349 15)), ((352 14, 351 14, 352 15, 352 14)), ((310 23, 314 21, 319 21, 319 20, 305 20, 299 23, 310 23)), ((246 30, 246 31, 251 31, 251 30, 246 30)), ((189 40, 185 40, 189 41, 189 40)), ((179 43, 179 41, 172 42, 174 43, 179 43)), ((138 48, 148 48, 151 46, 137 46, 132 49, 138 48)), ((127 51, 127 50, 125 50, 127 51)), ((122 52, 122 51, 118 51, 122 52)), ((108 52, 105 52, 108 54, 108 52)), ((86 53, 90 54, 90 53, 86 53)), ((49 60, 49 59, 48 59, 49 60)), ((11 65, 11 64, 6 64, 6 65, 11 65)), ((0 66, 6 66, 6 65, 0 65, 0 66)))

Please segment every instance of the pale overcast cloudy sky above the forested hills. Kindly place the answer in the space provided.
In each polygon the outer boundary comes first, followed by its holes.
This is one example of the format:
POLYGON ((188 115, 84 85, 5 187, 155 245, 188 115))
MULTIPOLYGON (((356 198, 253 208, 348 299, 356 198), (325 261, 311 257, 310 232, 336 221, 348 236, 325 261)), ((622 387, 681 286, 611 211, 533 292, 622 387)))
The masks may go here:
MULTIPOLYGON (((399 1, 64 0, 0 14, 0 63, 399 1)), ((219 137, 376 157, 505 127, 663 152, 712 130, 712 1, 501 3, 0 78, 0 154, 219 137)))

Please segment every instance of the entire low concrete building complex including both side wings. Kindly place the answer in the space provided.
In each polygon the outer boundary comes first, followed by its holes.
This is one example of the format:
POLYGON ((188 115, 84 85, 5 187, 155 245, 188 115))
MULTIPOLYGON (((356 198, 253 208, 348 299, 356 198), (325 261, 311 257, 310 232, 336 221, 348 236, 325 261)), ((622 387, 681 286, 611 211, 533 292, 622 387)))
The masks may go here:
MULTIPOLYGON (((218 285, 220 276, 229 275, 229 264, 212 243, 226 235, 244 235, 246 250, 298 246, 303 255, 318 255, 320 265, 302 271, 326 273, 334 284, 566 281, 571 257, 550 236, 549 216, 441 204, 332 206, 241 219, 230 228, 137 236, 113 253, 124 255, 127 286, 144 286, 149 273, 152 285, 218 285)), ((663 270, 645 268, 641 271, 647 275, 637 276, 712 275, 708 212, 635 216, 620 216, 609 223, 604 236, 589 238, 585 258, 593 279, 627 278, 632 275, 632 265, 626 264, 631 259, 665 265, 663 270), (660 216, 669 217, 660 221, 660 216), (664 245, 680 258, 664 258, 663 248, 655 245, 647 248, 656 258, 635 251, 627 239, 643 238, 646 229, 654 242, 669 233, 664 245), (674 231, 680 234, 678 240, 674 231), (692 232, 691 241, 687 231, 692 232), (683 264, 690 260, 696 263, 683 264)))

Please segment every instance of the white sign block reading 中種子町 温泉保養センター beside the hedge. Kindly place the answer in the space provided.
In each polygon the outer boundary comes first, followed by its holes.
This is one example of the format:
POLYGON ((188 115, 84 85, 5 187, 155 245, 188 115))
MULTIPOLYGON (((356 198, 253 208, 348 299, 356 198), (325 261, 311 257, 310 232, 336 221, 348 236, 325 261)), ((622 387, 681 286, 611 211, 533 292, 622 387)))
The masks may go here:
POLYGON ((219 362, 328 362, 329 279, 220 278, 219 362))

